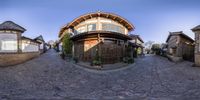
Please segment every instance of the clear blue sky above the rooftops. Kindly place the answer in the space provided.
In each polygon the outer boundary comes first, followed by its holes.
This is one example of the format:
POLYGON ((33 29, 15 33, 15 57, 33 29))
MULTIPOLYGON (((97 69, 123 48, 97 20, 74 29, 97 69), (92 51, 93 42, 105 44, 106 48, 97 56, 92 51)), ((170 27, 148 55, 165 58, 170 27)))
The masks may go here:
POLYGON ((1 0, 0 23, 11 20, 24 27, 24 36, 42 35, 58 40, 62 26, 90 12, 111 12, 135 26, 131 34, 145 41, 164 43, 169 32, 183 31, 194 39, 191 29, 200 25, 200 0, 1 0))

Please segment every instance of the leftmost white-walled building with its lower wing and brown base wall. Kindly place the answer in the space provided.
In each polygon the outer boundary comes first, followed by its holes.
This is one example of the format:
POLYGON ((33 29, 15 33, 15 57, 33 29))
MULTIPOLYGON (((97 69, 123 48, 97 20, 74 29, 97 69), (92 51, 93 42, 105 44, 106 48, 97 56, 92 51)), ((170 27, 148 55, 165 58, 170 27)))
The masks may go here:
POLYGON ((0 24, 0 66, 19 64, 39 56, 39 43, 22 36, 25 31, 12 21, 0 24))

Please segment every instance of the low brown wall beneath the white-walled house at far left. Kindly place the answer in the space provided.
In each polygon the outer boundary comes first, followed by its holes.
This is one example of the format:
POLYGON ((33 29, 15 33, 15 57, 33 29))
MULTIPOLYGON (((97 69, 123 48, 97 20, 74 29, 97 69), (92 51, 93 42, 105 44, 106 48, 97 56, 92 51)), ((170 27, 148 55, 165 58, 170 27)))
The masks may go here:
POLYGON ((39 55, 39 52, 0 54, 0 67, 20 64, 39 55))

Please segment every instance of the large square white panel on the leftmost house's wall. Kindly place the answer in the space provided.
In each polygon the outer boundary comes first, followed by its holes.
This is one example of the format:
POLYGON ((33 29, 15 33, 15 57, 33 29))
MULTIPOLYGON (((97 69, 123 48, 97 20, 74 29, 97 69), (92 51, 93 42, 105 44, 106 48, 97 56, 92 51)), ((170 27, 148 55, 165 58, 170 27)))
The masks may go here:
POLYGON ((0 34, 0 52, 17 52, 17 34, 0 34))

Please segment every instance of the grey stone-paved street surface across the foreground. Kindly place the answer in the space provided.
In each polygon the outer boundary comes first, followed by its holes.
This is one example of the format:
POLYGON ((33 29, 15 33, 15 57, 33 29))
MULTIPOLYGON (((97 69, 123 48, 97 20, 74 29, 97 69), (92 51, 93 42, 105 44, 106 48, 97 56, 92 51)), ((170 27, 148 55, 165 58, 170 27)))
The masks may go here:
POLYGON ((53 50, 0 68, 0 100, 200 100, 200 68, 149 55, 113 71, 86 69, 53 50))

